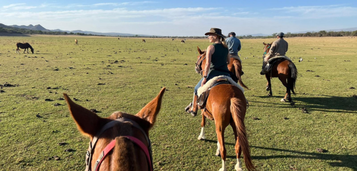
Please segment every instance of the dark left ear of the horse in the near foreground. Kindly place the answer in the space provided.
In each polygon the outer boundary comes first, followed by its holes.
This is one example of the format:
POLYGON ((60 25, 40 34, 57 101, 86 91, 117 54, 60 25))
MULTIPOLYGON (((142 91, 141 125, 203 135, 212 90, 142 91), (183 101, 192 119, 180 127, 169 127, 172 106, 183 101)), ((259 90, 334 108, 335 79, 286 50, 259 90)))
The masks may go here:
POLYGON ((70 115, 77 125, 77 129, 84 135, 95 136, 99 123, 103 118, 99 117, 96 113, 75 104, 67 94, 63 94, 63 96, 68 105, 70 115))

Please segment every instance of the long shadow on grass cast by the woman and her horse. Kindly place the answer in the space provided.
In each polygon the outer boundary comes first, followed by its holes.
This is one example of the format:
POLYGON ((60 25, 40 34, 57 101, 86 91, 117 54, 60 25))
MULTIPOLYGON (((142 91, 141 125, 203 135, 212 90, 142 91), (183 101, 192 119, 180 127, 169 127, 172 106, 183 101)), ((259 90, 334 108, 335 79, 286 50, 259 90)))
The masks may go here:
MULTIPOLYGON (((206 142, 216 143, 216 140, 204 140, 206 142)), ((235 145, 233 143, 225 143, 226 145, 235 145)), ((250 146, 250 148, 260 148, 265 150, 274 150, 282 152, 296 153, 300 155, 271 155, 271 156, 251 156, 252 159, 261 160, 261 159, 272 159, 272 158, 303 158, 303 159, 318 159, 318 160, 338 160, 336 162, 328 162, 333 167, 348 167, 357 171, 357 155, 339 155, 339 154, 326 154, 326 153, 315 153, 315 152, 304 152, 304 151, 295 151, 288 149, 279 149, 279 148, 270 148, 270 147, 259 147, 259 146, 250 146), (302 156, 306 155, 306 156, 302 156)), ((227 158, 236 158, 236 155, 227 155, 227 158)))

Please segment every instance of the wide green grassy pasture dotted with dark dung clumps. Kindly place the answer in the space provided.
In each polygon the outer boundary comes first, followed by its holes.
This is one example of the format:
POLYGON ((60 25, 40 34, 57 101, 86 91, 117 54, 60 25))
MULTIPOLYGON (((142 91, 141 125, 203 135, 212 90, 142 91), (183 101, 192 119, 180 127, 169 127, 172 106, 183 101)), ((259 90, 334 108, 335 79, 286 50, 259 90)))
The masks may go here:
MULTIPOLYGON (((199 141, 201 117, 183 112, 200 79, 194 70, 196 46, 205 49, 210 43, 145 40, 0 37, 0 84, 16 85, 0 93, 0 170, 84 170, 88 138, 77 131, 65 102, 58 100, 62 93, 106 117, 114 111, 136 114, 161 87, 167 91, 150 131, 155 170, 218 170, 214 122, 207 122, 207 140, 199 141), (35 54, 16 54, 16 42, 29 42, 35 54), (65 152, 68 148, 74 151, 65 152), (60 160, 49 159, 55 155, 60 160)), ((245 92, 250 102, 245 125, 253 163, 257 170, 357 170, 357 89, 349 89, 357 88, 357 39, 286 40, 287 55, 299 71, 295 107, 280 102, 285 88, 278 78, 272 80, 273 97, 267 97, 266 79, 259 75, 262 42, 274 39, 241 40, 242 80, 250 88, 245 92), (303 107, 308 114, 299 109, 303 107)), ((230 127, 225 140, 227 169, 233 170, 230 127)))

